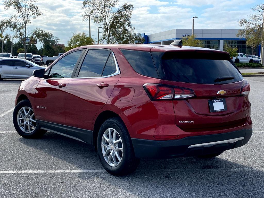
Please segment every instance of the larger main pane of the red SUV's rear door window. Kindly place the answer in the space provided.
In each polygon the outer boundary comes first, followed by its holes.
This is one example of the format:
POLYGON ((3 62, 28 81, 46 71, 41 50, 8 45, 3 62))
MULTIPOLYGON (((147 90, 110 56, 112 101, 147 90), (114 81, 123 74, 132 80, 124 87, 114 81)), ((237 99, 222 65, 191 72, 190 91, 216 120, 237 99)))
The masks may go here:
POLYGON ((109 54, 108 50, 89 50, 83 60, 78 77, 101 76, 109 54))

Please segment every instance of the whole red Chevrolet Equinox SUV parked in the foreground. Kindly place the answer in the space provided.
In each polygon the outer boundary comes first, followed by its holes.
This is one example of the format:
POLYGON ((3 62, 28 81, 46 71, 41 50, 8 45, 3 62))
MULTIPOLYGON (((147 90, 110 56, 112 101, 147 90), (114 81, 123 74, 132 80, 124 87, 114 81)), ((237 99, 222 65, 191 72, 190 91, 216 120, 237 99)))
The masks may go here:
POLYGON ((134 171, 140 158, 215 157, 252 135, 250 86, 227 52, 82 46, 33 75, 16 97, 17 132, 92 144, 113 175, 134 171))

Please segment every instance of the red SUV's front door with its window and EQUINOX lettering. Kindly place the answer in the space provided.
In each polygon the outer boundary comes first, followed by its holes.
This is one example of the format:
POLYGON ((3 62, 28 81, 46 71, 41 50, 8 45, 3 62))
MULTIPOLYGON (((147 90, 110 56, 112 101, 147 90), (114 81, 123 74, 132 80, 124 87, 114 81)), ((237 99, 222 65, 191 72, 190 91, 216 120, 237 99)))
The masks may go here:
POLYGON ((65 91, 74 75, 83 50, 74 51, 57 61, 41 79, 36 90, 36 115, 40 125, 50 131, 66 133, 65 127, 65 91))

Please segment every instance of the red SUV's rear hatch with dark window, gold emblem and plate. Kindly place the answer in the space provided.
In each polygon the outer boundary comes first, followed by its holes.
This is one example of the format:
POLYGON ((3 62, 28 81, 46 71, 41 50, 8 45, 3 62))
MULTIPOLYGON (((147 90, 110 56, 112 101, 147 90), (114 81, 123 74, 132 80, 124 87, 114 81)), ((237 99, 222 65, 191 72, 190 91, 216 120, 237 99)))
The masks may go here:
POLYGON ((250 103, 241 91, 249 85, 229 54, 177 50, 152 55, 162 84, 172 85, 180 92, 194 92, 194 96, 173 100, 179 128, 187 132, 216 131, 246 123, 250 103))

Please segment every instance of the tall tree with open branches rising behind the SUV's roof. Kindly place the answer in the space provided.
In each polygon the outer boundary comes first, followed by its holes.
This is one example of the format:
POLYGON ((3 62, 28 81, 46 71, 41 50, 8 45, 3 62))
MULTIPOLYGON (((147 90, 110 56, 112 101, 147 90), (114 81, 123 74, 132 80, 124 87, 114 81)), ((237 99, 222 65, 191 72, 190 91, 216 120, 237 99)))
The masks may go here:
POLYGON ((134 32, 130 21, 133 5, 124 3, 118 7, 118 4, 119 0, 83 0, 82 9, 103 27, 102 38, 107 44, 135 43, 139 34, 134 32))

